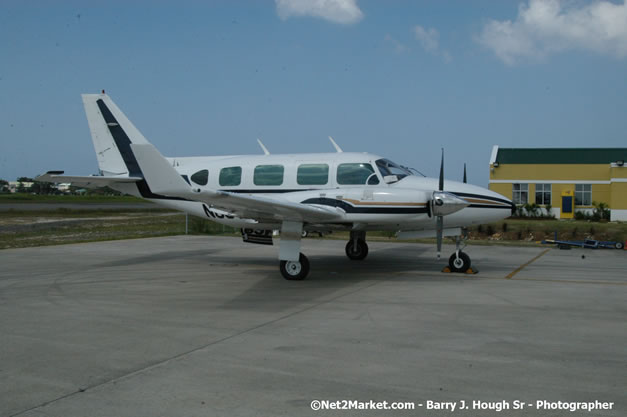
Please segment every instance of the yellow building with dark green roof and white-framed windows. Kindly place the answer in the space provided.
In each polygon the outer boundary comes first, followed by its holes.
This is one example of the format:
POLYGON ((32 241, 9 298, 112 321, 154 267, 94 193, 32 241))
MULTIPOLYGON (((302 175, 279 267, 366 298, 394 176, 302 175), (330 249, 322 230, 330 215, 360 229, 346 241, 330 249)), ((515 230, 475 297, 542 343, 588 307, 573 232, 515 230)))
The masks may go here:
POLYGON ((627 148, 499 148, 490 158, 490 189, 515 204, 551 206, 572 218, 606 203, 611 220, 627 221, 627 148))

